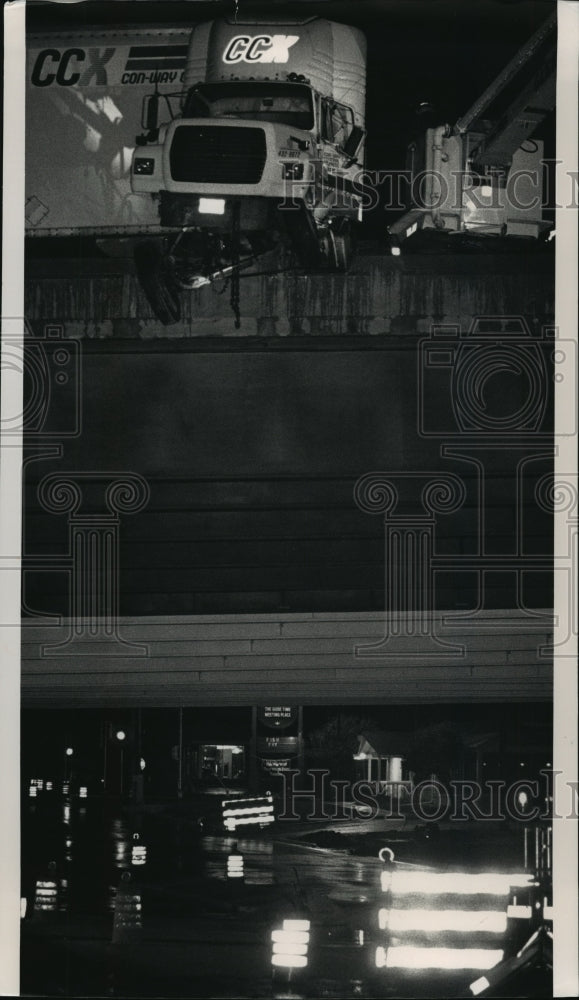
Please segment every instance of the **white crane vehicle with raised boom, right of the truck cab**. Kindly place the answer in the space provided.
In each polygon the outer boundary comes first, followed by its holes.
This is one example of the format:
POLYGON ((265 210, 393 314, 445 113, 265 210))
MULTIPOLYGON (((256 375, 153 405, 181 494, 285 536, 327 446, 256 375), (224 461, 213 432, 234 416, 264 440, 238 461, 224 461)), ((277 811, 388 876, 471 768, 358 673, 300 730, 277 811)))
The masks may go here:
POLYGON ((453 126, 427 129, 409 146, 416 200, 388 229, 394 249, 424 229, 537 238, 550 228, 543 143, 527 140, 555 106, 556 68, 553 13, 453 126))

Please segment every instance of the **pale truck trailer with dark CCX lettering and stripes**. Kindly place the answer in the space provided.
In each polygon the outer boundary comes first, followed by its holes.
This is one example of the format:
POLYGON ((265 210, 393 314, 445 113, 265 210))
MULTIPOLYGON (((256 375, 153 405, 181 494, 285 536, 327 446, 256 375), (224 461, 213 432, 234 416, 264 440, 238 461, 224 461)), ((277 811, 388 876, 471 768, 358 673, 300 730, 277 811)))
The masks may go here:
POLYGON ((188 28, 82 28, 27 37, 26 235, 158 233, 130 170, 143 97, 183 86, 188 28))

